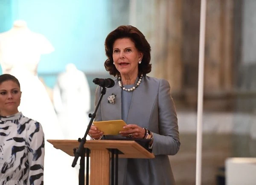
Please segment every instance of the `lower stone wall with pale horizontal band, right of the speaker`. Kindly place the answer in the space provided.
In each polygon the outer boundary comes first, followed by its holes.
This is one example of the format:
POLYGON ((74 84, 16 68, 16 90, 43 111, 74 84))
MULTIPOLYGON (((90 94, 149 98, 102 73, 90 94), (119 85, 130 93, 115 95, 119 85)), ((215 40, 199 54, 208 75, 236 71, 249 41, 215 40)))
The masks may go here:
MULTIPOLYGON (((180 151, 169 156, 177 185, 195 185, 196 112, 177 112, 180 151)), ((203 116, 202 185, 216 185, 228 157, 256 157, 256 116, 207 112, 203 116)))

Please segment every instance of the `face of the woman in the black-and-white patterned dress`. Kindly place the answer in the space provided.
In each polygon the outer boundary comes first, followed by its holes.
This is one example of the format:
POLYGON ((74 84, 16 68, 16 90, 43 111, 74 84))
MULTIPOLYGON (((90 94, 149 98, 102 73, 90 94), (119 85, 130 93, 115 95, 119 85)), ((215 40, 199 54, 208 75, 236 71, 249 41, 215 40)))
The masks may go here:
POLYGON ((0 84, 0 115, 9 116, 18 112, 20 87, 12 80, 0 84))

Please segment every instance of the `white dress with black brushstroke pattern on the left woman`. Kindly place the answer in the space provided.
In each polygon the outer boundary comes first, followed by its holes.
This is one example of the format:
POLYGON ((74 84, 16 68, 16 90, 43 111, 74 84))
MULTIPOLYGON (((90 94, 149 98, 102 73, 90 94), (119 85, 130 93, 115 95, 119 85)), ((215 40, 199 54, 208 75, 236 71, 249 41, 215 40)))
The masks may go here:
POLYGON ((44 132, 21 112, 0 117, 0 185, 44 184, 44 132))

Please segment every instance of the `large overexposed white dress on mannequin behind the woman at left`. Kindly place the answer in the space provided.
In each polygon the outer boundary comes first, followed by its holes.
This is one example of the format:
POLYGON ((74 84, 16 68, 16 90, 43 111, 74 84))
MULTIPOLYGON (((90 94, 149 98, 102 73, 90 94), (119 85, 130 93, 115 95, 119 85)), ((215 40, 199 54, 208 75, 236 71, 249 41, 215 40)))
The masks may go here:
MULTIPOLYGON (((0 65, 3 74, 12 74, 19 80, 22 91, 19 111, 41 123, 45 140, 64 138, 52 102, 37 76, 41 54, 52 51, 54 48, 47 38, 30 31, 22 20, 15 21, 11 30, 0 34, 0 65)), ((76 171, 71 164, 67 154, 45 141, 44 184, 78 184, 76 171)))

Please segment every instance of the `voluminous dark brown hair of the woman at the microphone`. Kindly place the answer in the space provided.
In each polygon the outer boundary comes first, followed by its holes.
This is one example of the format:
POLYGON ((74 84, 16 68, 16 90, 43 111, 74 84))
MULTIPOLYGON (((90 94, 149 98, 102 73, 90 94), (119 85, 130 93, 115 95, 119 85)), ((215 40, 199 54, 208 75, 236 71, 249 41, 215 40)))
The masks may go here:
POLYGON ((139 75, 148 74, 151 71, 151 47, 140 30, 130 25, 119 26, 108 34, 105 40, 105 52, 106 56, 108 57, 104 63, 105 69, 114 77, 119 74, 119 71, 117 71, 115 65, 113 64, 113 43, 116 41, 116 39, 120 38, 131 39, 134 42, 137 50, 143 53, 143 59, 139 65, 139 75))

